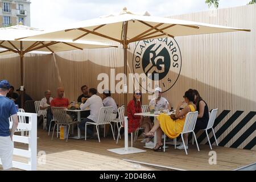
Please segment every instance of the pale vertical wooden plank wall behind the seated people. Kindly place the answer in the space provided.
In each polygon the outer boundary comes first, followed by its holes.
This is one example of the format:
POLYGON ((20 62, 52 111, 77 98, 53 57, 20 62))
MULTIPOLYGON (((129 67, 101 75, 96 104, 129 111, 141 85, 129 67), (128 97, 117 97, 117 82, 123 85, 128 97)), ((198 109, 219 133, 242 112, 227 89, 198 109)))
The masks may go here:
MULTIPOLYGON (((214 130, 218 135, 218 143, 225 147, 246 148, 255 147, 255 111, 256 111, 256 5, 246 5, 229 9, 210 10, 200 13, 172 16, 172 18, 194 20, 197 22, 220 24, 230 27, 249 28, 251 32, 231 32, 224 34, 209 34, 184 36, 175 38, 176 45, 168 40, 154 40, 154 48, 160 50, 170 47, 171 65, 174 67, 177 53, 180 50, 179 68, 170 71, 159 84, 163 90, 171 87, 163 96, 173 107, 182 100, 185 90, 199 90, 207 102, 209 109, 218 108, 218 120, 214 130), (169 78, 171 78, 169 80, 169 78), (177 78, 177 79, 176 79, 177 78)), ((150 32, 148 32, 150 34, 150 32)), ((127 72, 134 72, 134 54, 141 42, 131 43, 128 47, 127 72)), ((117 44, 118 45, 118 44, 117 44)), ((34 100, 43 97, 44 90, 52 90, 56 96, 56 88, 64 86, 65 97, 76 100, 81 94, 80 87, 84 84, 97 88, 102 81, 101 73, 106 73, 109 89, 115 90, 121 78, 118 73, 124 73, 123 49, 85 49, 69 51, 53 55, 25 56, 24 73, 25 88, 34 100), (100 80, 97 80, 97 78, 100 80), (110 78, 114 78, 111 79, 110 78)), ((148 47, 148 45, 147 45, 148 47)), ((143 52, 142 51, 142 52, 143 52)), ((159 52, 156 52, 158 54, 159 52)), ((142 59, 142 57, 141 57, 142 59)), ((138 64, 138 63, 137 63, 138 64)), ((141 66, 141 65, 139 65, 141 66)), ((138 67, 139 67, 138 66, 138 67)), ((15 55, 0 57, 0 78, 6 78, 19 87, 19 58, 15 55)), ((175 66, 176 67, 176 66, 175 66)), ((146 68, 143 68, 144 70, 146 68)), ((144 71, 141 69, 142 71, 144 71)), ((131 85, 129 85, 131 86, 131 85)), ((131 99, 132 94, 128 94, 131 99)), ((143 94, 143 104, 148 104, 148 94, 143 94)), ((124 103, 125 94, 114 93, 113 98, 120 106, 124 103)), ((207 143, 205 134, 197 133, 201 144, 207 143)), ((212 138, 212 134, 209 135, 212 138)))

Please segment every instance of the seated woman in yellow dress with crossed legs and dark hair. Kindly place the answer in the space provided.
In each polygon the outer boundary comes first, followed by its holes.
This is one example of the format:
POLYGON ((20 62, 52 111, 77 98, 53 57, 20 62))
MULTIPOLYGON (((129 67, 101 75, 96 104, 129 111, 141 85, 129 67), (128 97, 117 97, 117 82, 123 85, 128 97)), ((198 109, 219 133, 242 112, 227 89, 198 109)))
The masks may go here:
MULTIPOLYGON (((195 100, 195 94, 191 91, 188 90, 185 92, 184 96, 184 101, 181 101, 177 105, 175 117, 174 115, 167 115, 167 114, 160 114, 156 122, 154 123, 154 126, 148 133, 144 133, 147 137, 153 137, 154 133, 156 131, 158 141, 156 143, 156 146, 153 148, 154 151, 158 150, 163 150, 163 143, 162 143, 162 134, 163 132, 167 135, 169 138, 176 138, 179 137, 180 133, 183 131, 183 126, 185 123, 185 117, 187 113, 189 112, 194 112, 196 111, 196 105, 193 104, 193 101, 195 100), (187 106, 184 107, 180 111, 180 106, 183 105, 184 103, 187 103, 187 106)), ((184 135, 184 140, 186 143, 186 148, 188 148, 188 135, 184 135)), ((184 149, 183 144, 181 146, 177 147, 179 149, 184 149)))

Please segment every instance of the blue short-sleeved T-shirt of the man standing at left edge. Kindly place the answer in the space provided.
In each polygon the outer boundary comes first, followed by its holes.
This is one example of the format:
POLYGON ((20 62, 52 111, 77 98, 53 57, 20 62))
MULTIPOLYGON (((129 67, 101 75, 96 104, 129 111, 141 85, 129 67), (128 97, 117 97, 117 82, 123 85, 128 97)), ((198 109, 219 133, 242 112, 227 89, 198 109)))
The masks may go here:
POLYGON ((7 97, 0 96, 0 137, 10 136, 9 117, 17 114, 14 101, 7 97))

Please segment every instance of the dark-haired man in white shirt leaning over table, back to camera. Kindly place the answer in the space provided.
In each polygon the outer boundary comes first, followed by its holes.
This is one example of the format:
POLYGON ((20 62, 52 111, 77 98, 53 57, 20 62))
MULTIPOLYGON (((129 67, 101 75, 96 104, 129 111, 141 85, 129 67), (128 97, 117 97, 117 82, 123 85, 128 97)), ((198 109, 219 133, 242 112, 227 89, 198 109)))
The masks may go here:
MULTIPOLYGON (((86 122, 98 122, 98 114, 100 113, 101 107, 103 107, 103 103, 102 103, 101 97, 97 96, 96 94, 97 94, 97 90, 94 88, 91 88, 89 89, 90 98, 82 98, 82 104, 80 105, 80 109, 85 110, 86 107, 89 107, 90 109, 90 115, 79 123, 79 128, 82 131, 85 130, 86 122)), ((93 132, 88 128, 86 132, 89 135, 90 134, 93 135, 93 132)))

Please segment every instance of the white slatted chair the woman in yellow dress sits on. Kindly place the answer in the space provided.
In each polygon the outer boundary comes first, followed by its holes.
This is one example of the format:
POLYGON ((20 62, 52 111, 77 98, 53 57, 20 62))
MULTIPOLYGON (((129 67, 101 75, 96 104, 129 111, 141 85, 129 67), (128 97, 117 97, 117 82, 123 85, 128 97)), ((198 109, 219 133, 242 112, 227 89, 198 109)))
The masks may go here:
MULTIPOLYGON (((185 145, 185 142, 184 142, 183 134, 193 133, 193 136, 195 137, 195 140, 196 140, 196 134, 195 134, 194 130, 195 130, 195 126, 196 126, 197 115, 198 115, 198 111, 189 112, 186 115, 183 131, 180 133, 184 146, 186 146, 186 145, 185 145)), ((176 149, 176 142, 177 142, 177 139, 175 138, 174 139, 175 149, 176 149)), ((197 140, 196 140, 196 146, 197 146, 197 150, 200 151, 197 140)), ((188 155, 187 148, 184 147, 184 149, 185 149, 186 155, 188 155)), ((164 135, 164 152, 165 151, 166 151, 166 136, 164 135)))

